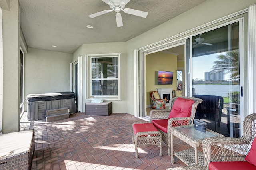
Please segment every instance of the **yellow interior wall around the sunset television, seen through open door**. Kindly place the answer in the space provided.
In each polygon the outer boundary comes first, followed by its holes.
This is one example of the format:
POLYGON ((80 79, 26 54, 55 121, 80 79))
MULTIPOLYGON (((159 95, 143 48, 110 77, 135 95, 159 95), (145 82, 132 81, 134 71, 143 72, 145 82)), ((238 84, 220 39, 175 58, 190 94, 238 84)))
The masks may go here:
POLYGON ((157 91, 157 88, 173 88, 176 89, 177 81, 177 56, 168 53, 152 53, 146 55, 146 106, 151 105, 150 92, 157 91), (172 71, 172 85, 158 85, 158 71, 172 71))

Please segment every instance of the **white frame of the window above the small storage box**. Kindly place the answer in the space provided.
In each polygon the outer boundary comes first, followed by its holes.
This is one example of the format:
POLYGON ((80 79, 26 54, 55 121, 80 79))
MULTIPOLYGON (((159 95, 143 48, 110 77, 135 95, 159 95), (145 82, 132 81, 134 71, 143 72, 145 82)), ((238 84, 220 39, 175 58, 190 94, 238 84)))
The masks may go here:
POLYGON ((108 96, 108 95, 101 95, 101 96, 93 96, 94 98, 100 98, 104 100, 121 100, 121 53, 110 53, 110 54, 90 54, 86 55, 88 58, 88 96, 87 99, 92 99, 92 74, 91 74, 91 63, 92 58, 109 58, 109 57, 117 57, 117 64, 118 64, 118 74, 117 78, 108 78, 109 80, 117 79, 117 95, 115 96, 108 96))

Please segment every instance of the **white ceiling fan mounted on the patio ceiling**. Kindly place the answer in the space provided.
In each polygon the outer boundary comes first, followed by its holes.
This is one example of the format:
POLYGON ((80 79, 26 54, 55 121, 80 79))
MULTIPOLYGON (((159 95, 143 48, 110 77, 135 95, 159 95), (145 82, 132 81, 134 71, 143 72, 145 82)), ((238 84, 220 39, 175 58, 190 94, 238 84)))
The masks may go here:
POLYGON ((124 6, 130 2, 130 0, 102 0, 106 4, 108 4, 111 8, 111 10, 104 10, 100 12, 96 12, 95 14, 89 15, 90 18, 94 18, 96 16, 100 16, 102 14, 106 14, 108 12, 115 11, 116 12, 116 25, 117 27, 123 26, 122 16, 120 11, 124 11, 124 13, 132 14, 136 16, 140 16, 143 18, 146 18, 148 15, 148 12, 140 11, 140 10, 134 10, 130 8, 124 8, 124 6))

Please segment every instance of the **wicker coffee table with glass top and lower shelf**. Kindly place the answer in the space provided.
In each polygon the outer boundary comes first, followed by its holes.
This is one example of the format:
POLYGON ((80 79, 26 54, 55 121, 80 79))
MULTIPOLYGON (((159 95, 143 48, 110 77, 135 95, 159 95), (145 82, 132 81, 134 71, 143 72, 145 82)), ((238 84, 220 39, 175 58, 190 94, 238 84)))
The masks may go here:
POLYGON ((204 156, 198 149, 202 148, 204 138, 224 137, 224 135, 206 129, 206 132, 200 132, 194 128, 194 124, 180 127, 171 127, 171 162, 174 163, 174 155, 188 166, 200 164, 204 166, 204 156), (173 135, 186 142, 194 149, 173 152, 173 135))

